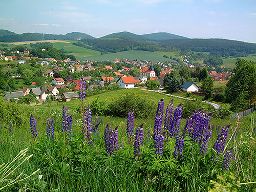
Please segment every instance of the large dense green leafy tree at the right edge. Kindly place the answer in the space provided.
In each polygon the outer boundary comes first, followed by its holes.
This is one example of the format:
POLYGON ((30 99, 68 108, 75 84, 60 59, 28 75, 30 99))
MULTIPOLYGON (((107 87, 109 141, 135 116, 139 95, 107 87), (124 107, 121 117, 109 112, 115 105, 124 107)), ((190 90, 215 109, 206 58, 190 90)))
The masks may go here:
MULTIPOLYGON (((244 103, 241 100, 248 101, 256 97, 256 66, 253 61, 245 59, 238 60, 235 65, 233 74, 227 83, 225 98, 229 103, 236 102, 236 100, 244 103)), ((243 106, 245 108, 245 105, 243 106)))

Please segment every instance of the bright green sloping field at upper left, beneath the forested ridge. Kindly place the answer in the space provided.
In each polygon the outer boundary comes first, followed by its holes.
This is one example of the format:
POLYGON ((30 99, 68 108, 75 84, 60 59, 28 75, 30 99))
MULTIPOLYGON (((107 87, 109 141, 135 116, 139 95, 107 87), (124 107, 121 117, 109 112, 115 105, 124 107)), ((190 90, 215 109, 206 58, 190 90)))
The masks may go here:
POLYGON ((86 49, 86 48, 75 46, 72 44, 67 44, 65 42, 54 42, 53 48, 64 49, 67 52, 71 52, 69 54, 74 55, 77 59, 80 59, 81 57, 100 55, 99 51, 94 51, 91 49, 86 49))

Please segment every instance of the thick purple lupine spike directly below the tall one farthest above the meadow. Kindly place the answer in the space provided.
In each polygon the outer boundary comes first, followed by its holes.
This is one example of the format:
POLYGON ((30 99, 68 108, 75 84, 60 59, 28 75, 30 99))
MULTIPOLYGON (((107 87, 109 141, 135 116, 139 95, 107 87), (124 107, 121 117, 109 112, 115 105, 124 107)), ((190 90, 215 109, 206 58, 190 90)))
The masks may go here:
POLYGON ((82 133, 86 142, 88 144, 91 144, 92 142, 92 111, 91 111, 90 103, 88 104, 88 108, 84 112, 82 133))

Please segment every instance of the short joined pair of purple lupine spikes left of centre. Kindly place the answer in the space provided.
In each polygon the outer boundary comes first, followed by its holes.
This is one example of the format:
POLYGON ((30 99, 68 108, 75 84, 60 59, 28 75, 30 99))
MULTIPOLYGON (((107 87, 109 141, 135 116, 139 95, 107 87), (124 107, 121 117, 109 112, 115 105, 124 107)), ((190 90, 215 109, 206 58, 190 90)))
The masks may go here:
POLYGON ((110 155, 114 154, 114 151, 119 149, 117 127, 112 130, 110 123, 108 123, 105 128, 105 146, 106 153, 110 155))

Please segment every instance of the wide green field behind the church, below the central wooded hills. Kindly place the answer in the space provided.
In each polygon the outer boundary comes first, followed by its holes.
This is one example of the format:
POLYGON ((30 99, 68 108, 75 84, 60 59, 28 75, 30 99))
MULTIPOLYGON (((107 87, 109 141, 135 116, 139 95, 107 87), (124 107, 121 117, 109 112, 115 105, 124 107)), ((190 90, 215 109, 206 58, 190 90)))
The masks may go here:
POLYGON ((114 60, 115 58, 122 59, 139 59, 139 60, 150 60, 153 62, 165 62, 165 61, 174 61, 172 59, 167 59, 157 55, 155 52, 148 51, 123 51, 118 53, 109 53, 99 56, 91 56, 91 57, 82 57, 80 59, 88 59, 88 60, 114 60))

